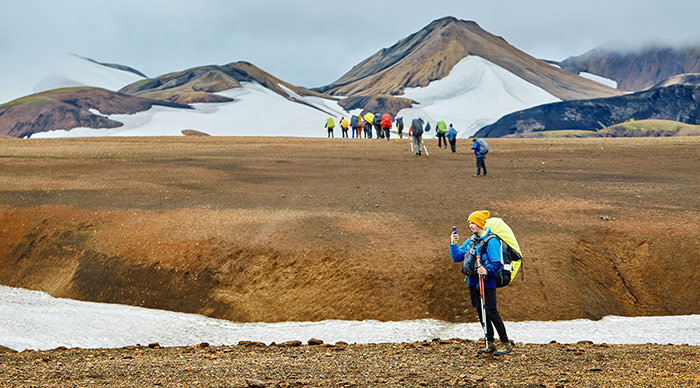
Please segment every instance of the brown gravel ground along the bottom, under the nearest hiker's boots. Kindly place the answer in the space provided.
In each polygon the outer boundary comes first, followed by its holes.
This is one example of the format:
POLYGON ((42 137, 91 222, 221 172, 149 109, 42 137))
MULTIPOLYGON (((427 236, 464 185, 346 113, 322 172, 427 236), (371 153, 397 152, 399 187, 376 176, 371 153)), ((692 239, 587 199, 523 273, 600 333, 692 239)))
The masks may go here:
POLYGON ((516 344, 239 344, 0 354, 3 387, 697 387, 700 347, 516 344))

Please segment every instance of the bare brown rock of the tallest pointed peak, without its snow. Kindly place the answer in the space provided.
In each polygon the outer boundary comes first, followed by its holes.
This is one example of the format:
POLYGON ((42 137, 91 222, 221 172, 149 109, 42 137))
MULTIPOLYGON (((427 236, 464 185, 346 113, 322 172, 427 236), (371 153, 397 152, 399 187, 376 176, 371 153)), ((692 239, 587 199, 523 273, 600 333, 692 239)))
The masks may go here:
POLYGON ((406 88, 425 87, 445 78, 455 64, 470 55, 484 58, 562 100, 620 94, 536 59, 473 21, 454 17, 433 21, 315 90, 350 97, 399 96, 406 88))

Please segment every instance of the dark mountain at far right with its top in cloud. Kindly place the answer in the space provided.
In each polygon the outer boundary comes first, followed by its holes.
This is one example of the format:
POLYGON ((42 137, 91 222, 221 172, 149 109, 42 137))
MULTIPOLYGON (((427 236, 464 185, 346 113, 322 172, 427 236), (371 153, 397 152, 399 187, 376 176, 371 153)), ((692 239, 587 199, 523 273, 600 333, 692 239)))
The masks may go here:
POLYGON ((558 64, 574 74, 587 72, 616 81, 625 91, 646 90, 677 74, 700 73, 700 44, 618 46, 595 48, 558 64))

